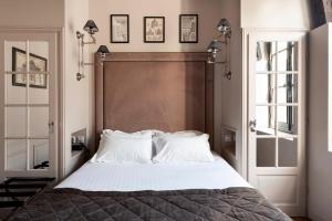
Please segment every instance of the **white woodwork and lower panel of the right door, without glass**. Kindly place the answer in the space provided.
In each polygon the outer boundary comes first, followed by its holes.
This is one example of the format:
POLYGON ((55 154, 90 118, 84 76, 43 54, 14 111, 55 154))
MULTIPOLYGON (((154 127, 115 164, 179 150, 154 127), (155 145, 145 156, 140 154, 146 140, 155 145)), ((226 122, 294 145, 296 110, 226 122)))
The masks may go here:
MULTIPOLYGON (((267 31, 267 30, 242 30, 242 52, 243 52, 243 171, 247 171, 247 178, 251 185, 260 189, 266 196, 270 197, 279 208, 291 215, 305 214, 305 32, 303 31, 267 31), (256 95, 252 85, 255 85, 256 75, 256 48, 258 41, 297 41, 299 42, 299 107, 298 107, 298 166, 278 167, 278 148, 276 148, 274 167, 257 167, 256 133, 250 131, 249 122, 255 117, 256 95), (248 147, 248 148, 247 148, 248 147), (246 158, 246 159, 245 159, 246 158), (293 189, 288 189, 293 185, 293 189), (272 188, 274 187, 274 189, 272 188), (280 198, 277 189, 284 188, 284 194, 293 194, 289 198, 280 198), (293 198, 292 198, 293 197, 293 198)), ((277 95, 276 95, 277 102, 277 95)), ((278 104, 276 103, 278 106, 278 104)), ((288 104, 290 105, 290 104, 288 104)), ((276 107, 277 108, 277 107, 276 107)), ((276 123, 278 123, 276 118, 276 123)), ((276 124, 278 125, 278 124, 276 124)), ((278 135, 276 141, 279 141, 278 135)), ((276 143, 277 144, 277 143, 276 143)), ((278 144, 277 144, 278 147, 278 144)))

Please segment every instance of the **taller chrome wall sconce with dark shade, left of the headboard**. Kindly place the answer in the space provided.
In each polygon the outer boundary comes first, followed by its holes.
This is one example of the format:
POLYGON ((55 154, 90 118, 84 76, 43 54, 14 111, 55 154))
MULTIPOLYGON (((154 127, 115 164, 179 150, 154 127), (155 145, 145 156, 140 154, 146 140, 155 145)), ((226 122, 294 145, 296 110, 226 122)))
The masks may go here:
POLYGON ((86 31, 90 35, 90 41, 84 41, 84 34, 80 31, 76 31, 76 38, 79 41, 79 72, 76 73, 76 80, 81 81, 85 77, 84 75, 84 65, 91 65, 91 63, 84 63, 84 45, 85 44, 95 44, 96 39, 94 34, 98 32, 98 28, 94 23, 93 20, 89 20, 85 25, 83 27, 83 30, 86 31))

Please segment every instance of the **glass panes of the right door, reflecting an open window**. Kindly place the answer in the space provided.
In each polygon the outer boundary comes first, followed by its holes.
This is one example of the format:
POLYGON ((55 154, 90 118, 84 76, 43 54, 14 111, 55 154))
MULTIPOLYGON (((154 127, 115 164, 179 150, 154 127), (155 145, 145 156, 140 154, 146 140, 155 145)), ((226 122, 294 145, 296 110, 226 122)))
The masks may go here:
POLYGON ((298 42, 257 42, 257 167, 298 165, 298 42))

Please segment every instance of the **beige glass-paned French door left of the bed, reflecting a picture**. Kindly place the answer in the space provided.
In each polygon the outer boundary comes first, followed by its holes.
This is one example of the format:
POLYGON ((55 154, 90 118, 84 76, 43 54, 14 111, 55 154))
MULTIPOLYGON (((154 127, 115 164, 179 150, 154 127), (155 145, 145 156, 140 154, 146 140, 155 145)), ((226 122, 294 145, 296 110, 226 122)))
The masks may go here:
POLYGON ((56 177, 56 33, 0 32, 0 179, 56 177))

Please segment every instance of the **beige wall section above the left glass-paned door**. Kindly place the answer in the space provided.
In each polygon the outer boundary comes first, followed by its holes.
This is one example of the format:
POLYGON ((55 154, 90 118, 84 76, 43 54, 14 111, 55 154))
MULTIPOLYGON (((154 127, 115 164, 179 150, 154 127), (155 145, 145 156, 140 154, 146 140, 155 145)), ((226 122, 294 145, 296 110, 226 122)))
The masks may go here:
POLYGON ((61 28, 63 0, 0 0, 0 27, 61 28))

